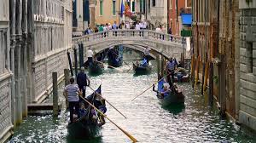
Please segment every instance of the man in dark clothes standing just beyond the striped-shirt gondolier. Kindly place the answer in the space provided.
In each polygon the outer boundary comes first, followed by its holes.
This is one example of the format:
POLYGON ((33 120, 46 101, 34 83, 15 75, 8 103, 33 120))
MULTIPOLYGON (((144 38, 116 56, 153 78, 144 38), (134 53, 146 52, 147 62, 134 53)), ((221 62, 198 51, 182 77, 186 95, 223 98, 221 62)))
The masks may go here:
POLYGON ((81 72, 79 72, 77 77, 77 83, 80 91, 83 92, 83 97, 85 97, 86 86, 90 86, 90 80, 86 73, 84 73, 84 67, 81 67, 81 72))

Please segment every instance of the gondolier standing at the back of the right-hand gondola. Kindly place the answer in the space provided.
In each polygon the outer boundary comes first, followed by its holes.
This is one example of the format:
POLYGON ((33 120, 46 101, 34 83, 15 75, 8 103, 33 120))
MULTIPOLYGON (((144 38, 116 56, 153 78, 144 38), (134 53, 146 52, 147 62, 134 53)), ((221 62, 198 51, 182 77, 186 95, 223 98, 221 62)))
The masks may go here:
POLYGON ((172 87, 172 83, 174 81, 175 69, 176 69, 176 63, 172 58, 170 58, 169 61, 166 63, 166 74, 168 75, 167 82, 170 84, 171 87, 172 87), (172 77, 172 81, 171 81, 170 76, 172 77))

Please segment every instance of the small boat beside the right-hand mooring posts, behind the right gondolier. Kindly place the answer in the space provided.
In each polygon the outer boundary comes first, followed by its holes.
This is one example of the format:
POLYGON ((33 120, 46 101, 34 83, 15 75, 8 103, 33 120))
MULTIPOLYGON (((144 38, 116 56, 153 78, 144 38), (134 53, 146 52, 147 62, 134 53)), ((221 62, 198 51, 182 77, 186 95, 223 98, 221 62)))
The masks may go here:
POLYGON ((189 71, 182 67, 178 67, 174 73, 174 82, 189 82, 189 71))

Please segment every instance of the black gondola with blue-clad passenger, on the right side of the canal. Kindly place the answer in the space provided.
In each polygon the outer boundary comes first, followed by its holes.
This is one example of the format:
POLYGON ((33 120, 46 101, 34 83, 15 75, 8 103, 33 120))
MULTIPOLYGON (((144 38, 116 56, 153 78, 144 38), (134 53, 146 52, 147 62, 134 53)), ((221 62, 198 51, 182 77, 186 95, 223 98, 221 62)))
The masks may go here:
POLYGON ((157 98, 160 101, 160 104, 162 106, 169 106, 172 104, 184 103, 185 96, 183 95, 180 89, 177 89, 176 84, 173 84, 173 86, 170 88, 171 89, 170 92, 167 92, 166 94, 160 94, 161 92, 164 91, 164 83, 165 81, 162 78, 160 82, 158 82, 157 91, 154 90, 154 86, 153 86, 153 91, 157 92, 157 98))

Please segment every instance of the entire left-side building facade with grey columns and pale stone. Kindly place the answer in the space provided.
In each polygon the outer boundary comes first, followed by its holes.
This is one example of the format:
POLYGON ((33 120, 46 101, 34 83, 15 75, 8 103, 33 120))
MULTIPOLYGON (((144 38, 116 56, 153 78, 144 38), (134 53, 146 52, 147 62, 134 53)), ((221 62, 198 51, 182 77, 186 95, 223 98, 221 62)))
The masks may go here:
POLYGON ((63 77, 72 47, 72 0, 0 2, 0 142, 52 88, 52 72, 63 77))

